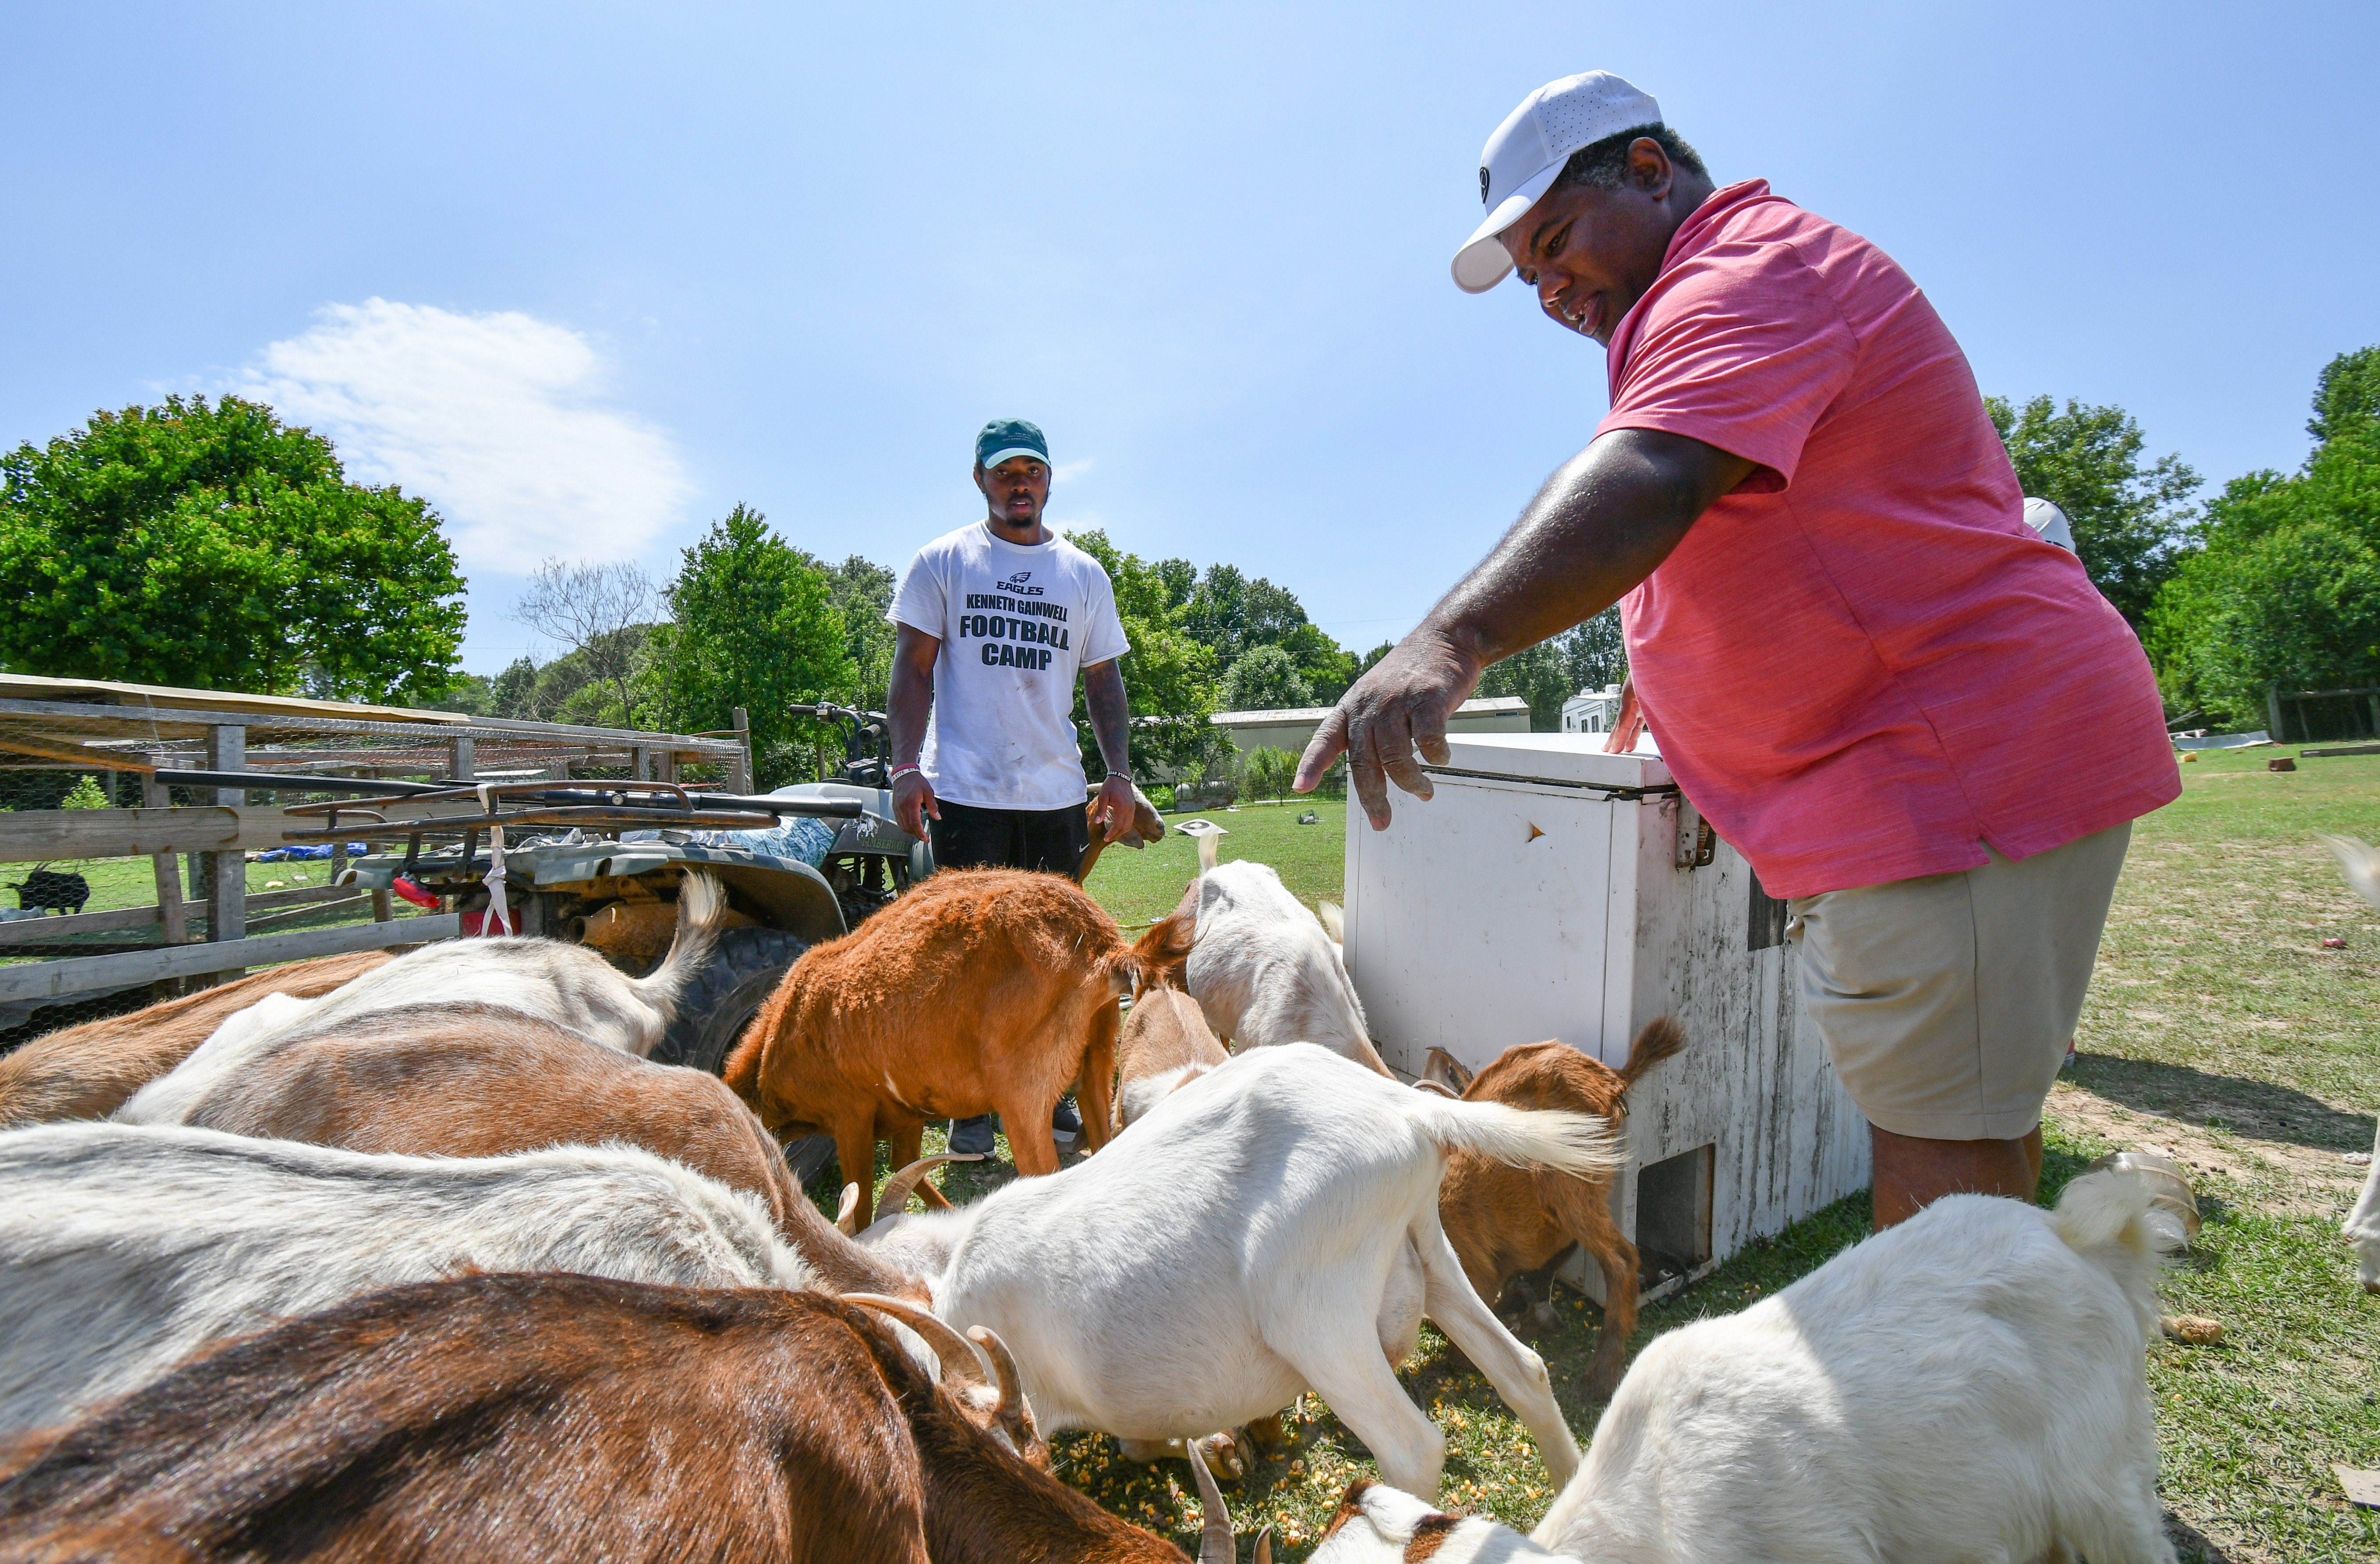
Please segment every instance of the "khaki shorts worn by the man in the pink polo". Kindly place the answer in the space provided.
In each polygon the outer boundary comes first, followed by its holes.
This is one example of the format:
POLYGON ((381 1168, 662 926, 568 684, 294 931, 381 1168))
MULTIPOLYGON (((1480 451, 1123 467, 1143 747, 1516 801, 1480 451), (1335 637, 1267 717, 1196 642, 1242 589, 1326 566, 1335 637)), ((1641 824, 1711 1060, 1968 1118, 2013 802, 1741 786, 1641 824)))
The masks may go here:
POLYGON ((1787 902, 1809 1005, 1868 1124, 2016 1140, 2042 1121, 2082 1016, 2132 826, 1964 874, 1787 902))

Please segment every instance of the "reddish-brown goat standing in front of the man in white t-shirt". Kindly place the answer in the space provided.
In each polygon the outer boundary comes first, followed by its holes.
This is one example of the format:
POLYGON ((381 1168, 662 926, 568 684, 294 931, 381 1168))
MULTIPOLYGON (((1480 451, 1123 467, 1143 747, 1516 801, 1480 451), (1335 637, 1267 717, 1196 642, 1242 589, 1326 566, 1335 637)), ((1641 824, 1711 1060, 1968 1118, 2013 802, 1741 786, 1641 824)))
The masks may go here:
POLYGON ((1126 945, 1054 874, 945 869, 804 952, 721 1074, 771 1133, 833 1136, 845 1183, 873 1181, 878 1138, 907 1166, 931 1119, 990 1112, 1019 1174, 1054 1174, 1050 1109, 1069 1081, 1090 1147, 1107 1143, 1116 997, 1173 933, 1126 945))

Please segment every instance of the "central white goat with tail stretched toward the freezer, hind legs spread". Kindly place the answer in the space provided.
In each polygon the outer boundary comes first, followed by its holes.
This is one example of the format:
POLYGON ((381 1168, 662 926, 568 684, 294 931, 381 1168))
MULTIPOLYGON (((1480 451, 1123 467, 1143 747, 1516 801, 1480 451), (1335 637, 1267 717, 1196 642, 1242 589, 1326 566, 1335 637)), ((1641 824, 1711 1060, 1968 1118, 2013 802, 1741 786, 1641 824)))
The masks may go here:
POLYGON ((1609 1176, 1611 1126, 1416 1093, 1288 1043, 1159 1100, 1097 1157, 957 1212, 866 1233, 935 1314, 1009 1343, 1045 1431, 1204 1438, 1319 1390, 1402 1488, 1435 1493, 1445 1435, 1397 1385, 1421 1319, 1578 1464, 1545 1364, 1497 1324, 1438 1226, 1447 1150, 1609 1176))

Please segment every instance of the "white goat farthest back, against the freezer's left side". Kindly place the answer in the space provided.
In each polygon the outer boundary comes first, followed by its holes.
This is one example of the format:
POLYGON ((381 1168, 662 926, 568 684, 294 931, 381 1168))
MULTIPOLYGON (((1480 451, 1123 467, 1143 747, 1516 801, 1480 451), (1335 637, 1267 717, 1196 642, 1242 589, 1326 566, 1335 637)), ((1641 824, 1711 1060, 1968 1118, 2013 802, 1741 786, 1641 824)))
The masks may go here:
POLYGON ((1197 943, 1183 981, 1219 1038, 1238 1050, 1321 1043, 1388 1076, 1338 945, 1271 864, 1216 864, 1192 890, 1197 943))

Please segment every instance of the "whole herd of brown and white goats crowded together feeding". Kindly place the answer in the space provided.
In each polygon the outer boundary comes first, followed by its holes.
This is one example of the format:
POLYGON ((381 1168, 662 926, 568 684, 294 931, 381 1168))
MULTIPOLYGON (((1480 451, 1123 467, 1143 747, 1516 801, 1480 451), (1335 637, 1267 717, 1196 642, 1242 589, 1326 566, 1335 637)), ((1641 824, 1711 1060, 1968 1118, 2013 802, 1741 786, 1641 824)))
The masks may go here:
POLYGON ((2142 1355, 2178 1235, 2128 1174, 1942 1200, 1623 1376, 1616 1124, 1668 1019, 1623 1069, 1535 1043, 1402 1086, 1271 869, 1209 859, 1130 943, 988 869, 809 950, 724 1081, 652 1064, 724 912, 690 874, 645 978, 452 940, 0 1059, 0 1559, 1183 1559, 1050 1476, 1090 1428, 1188 1459, 1226 1564, 1209 1466, 1307 1390, 1383 1476, 1330 1564, 2173 1557, 2142 1355), (950 1207, 923 1126, 978 1112, 1019 1178, 950 1207), (838 1221, 797 1133, 835 1138, 838 1221), (1573 1245, 1585 1459, 1490 1307, 1573 1245), (1530 1538, 1430 1504, 1423 1319, 1561 1488, 1530 1538))

